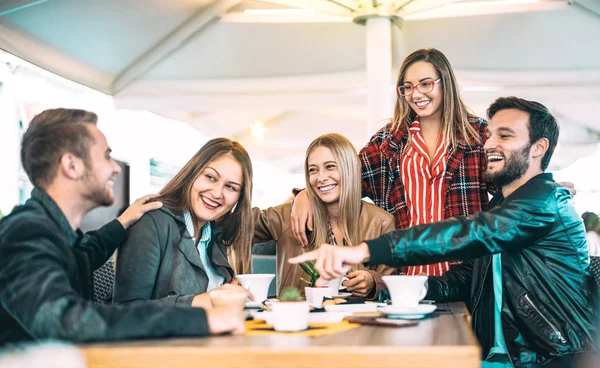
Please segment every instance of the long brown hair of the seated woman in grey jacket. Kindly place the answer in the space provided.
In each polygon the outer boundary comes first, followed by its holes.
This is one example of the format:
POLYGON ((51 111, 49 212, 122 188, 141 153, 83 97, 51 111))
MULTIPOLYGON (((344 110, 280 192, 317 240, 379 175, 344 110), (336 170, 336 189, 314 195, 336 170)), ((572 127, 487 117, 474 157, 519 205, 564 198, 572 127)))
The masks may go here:
MULTIPOLYGON (((233 211, 228 211, 216 223, 223 231, 229 261, 236 273, 250 273, 254 224, 252 217, 252 162, 248 152, 236 141, 215 138, 208 141, 160 191, 157 201, 177 214, 190 212, 194 227, 198 218, 192 210, 192 186, 204 168, 219 157, 230 154, 242 166, 243 183, 240 198, 233 211)), ((198 229, 196 229, 197 231, 198 229)))

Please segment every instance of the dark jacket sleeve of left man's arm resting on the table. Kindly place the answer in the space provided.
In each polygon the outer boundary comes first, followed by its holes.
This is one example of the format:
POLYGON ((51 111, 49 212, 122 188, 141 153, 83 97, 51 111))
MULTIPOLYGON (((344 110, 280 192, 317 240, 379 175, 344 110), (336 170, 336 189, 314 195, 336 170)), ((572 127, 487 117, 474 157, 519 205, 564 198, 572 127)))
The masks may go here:
POLYGON ((78 342, 209 333, 203 309, 117 306, 84 299, 73 287, 71 250, 50 224, 15 224, 4 235, 0 303, 35 339, 78 342))

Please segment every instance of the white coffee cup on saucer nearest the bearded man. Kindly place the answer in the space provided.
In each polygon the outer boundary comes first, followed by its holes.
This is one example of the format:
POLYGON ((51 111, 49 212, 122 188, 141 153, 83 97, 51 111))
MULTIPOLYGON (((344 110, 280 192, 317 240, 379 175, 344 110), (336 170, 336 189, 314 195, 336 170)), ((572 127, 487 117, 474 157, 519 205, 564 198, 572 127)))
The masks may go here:
POLYGON ((394 307, 416 308, 427 294, 427 276, 383 276, 394 307))

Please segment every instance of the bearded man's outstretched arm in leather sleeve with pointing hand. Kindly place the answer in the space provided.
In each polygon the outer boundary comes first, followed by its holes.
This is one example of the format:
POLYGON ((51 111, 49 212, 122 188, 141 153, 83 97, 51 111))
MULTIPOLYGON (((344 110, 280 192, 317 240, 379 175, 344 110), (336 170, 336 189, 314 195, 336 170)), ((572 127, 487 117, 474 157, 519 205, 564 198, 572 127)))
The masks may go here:
POLYGON ((416 265, 516 251, 551 229, 556 209, 551 200, 531 203, 528 198, 512 199, 489 212, 396 230, 356 247, 323 245, 289 261, 314 260, 321 277, 330 280, 362 262, 416 265))

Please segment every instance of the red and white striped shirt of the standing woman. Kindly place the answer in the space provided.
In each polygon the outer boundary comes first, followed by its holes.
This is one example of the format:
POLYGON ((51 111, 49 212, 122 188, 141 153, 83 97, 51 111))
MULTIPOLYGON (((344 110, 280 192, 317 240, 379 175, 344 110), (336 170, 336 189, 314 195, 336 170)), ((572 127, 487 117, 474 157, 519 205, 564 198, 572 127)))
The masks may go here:
MULTIPOLYGON (((418 118, 410 124, 409 131, 411 141, 402 155, 400 174, 404 183, 410 226, 441 221, 444 219, 446 198, 442 188, 446 175, 448 145, 440 135, 433 161, 430 161, 418 118)), ((440 276, 449 269, 448 262, 410 266, 407 275, 424 272, 429 276, 440 276)))

